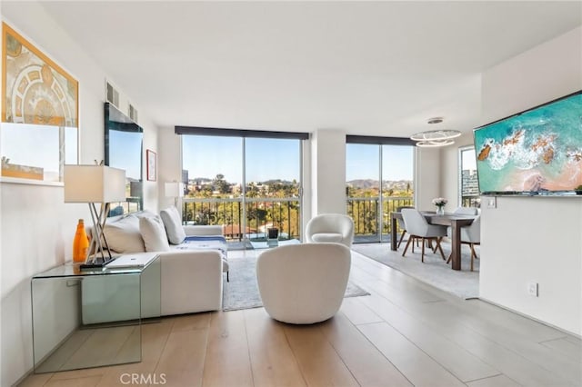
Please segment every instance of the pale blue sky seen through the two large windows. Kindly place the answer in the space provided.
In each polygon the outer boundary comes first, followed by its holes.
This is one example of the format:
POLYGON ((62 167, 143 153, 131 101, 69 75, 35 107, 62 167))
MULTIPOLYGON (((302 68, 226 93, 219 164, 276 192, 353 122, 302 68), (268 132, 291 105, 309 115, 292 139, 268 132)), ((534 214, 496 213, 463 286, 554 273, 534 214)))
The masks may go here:
MULTIPOLYGON (((224 174, 229 183, 242 181, 243 141, 238 137, 182 136, 182 160, 189 178, 224 174)), ((246 181, 300 180, 300 141, 247 138, 246 181)), ((413 148, 384 146, 384 180, 413 180, 413 148)), ((378 180, 378 145, 348 144, 346 178, 378 180)))

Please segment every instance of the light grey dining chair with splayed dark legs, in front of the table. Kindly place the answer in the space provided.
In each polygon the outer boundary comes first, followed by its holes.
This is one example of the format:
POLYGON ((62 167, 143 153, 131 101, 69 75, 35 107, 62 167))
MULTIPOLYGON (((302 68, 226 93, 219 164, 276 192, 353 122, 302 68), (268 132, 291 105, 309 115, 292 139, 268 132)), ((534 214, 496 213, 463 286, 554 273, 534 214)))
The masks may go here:
MULTIPOLYGON (((402 217, 406 223, 406 232, 410 234, 410 238, 408 238, 408 242, 406 242, 406 247, 404 248, 404 253, 402 253, 402 256, 405 256, 406 250, 408 250, 408 245, 410 245, 411 242, 420 239, 422 243, 422 253, 420 256, 421 262, 425 262, 426 241, 435 241, 437 245, 433 249, 433 253, 436 253, 438 249, 440 255, 443 257, 443 261, 446 260, 445 253, 443 253, 443 249, 440 246, 440 241, 443 236, 447 236, 446 226, 429 224, 423 214, 414 208, 403 209, 402 217)), ((412 252, 414 253, 414 251, 415 246, 413 244, 412 252)))

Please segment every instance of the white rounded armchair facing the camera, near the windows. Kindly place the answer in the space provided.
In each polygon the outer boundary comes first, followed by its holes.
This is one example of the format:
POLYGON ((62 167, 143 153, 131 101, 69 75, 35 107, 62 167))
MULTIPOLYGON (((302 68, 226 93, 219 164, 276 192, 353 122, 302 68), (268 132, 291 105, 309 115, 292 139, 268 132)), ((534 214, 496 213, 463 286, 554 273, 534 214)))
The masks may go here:
POLYGON ((354 221, 341 213, 321 213, 306 225, 306 242, 335 242, 348 248, 354 242, 354 221))

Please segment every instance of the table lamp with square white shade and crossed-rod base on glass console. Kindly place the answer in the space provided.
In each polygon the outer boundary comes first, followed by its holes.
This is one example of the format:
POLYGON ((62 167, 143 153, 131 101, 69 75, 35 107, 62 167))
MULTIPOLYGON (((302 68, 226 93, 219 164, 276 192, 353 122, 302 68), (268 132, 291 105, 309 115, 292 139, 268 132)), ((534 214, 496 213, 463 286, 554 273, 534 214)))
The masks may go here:
POLYGON ((106 165, 65 165, 65 203, 88 203, 93 221, 93 237, 81 269, 102 267, 113 259, 103 231, 109 203, 115 202, 125 202, 123 169, 106 165), (95 203, 101 204, 99 211, 95 203))

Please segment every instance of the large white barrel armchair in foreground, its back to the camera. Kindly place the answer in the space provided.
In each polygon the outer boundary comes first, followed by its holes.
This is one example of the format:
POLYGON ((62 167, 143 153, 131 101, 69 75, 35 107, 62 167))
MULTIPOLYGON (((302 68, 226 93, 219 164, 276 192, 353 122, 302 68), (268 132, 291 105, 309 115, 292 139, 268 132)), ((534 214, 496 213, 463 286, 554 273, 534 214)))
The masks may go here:
POLYGON ((279 246, 256 259, 266 313, 283 323, 319 323, 337 313, 346 293, 351 252, 340 243, 279 246))

